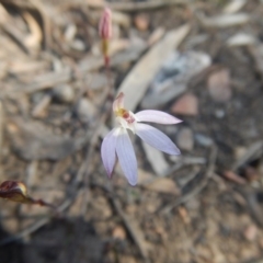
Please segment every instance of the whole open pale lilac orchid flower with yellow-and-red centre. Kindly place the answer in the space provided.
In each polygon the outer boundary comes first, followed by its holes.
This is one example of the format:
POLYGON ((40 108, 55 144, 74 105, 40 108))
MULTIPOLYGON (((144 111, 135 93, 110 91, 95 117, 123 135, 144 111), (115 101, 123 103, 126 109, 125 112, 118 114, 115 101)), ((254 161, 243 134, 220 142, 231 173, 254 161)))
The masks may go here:
POLYGON ((106 135, 101 147, 102 161, 110 178, 113 173, 117 153, 121 168, 129 184, 136 185, 137 183, 137 160, 127 129, 130 129, 145 142, 160 151, 173 156, 180 155, 179 148, 167 135, 148 124, 141 123, 178 124, 182 122, 179 118, 153 110, 134 114, 124 108, 124 93, 121 93, 114 101, 113 112, 117 125, 106 135))

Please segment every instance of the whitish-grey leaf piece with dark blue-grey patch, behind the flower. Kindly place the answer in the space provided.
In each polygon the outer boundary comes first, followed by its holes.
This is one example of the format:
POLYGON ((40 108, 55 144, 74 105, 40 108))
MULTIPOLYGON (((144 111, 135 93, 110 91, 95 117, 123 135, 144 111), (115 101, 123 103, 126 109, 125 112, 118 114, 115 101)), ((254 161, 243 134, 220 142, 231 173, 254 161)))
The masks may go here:
POLYGON ((140 105, 156 108, 186 91, 190 80, 210 66, 209 55, 188 50, 173 53, 158 70, 140 105))

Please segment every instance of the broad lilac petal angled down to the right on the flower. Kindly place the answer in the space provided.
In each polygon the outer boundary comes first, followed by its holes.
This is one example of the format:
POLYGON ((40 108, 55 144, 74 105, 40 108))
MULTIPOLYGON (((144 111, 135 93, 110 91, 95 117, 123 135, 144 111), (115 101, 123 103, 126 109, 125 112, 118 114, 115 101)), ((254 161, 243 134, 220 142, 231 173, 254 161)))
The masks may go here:
POLYGON ((179 148, 172 140, 157 128, 147 124, 137 124, 135 133, 148 145, 172 156, 180 155, 179 148))

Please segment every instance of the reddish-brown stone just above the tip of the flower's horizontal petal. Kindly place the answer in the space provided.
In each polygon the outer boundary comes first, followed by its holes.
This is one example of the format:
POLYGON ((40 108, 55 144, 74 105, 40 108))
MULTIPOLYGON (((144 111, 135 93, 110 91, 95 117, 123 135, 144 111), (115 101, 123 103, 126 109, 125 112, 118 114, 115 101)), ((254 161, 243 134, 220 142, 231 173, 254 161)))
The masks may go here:
POLYGON ((191 93, 184 94, 172 105, 171 112, 196 116, 198 114, 198 99, 191 93))

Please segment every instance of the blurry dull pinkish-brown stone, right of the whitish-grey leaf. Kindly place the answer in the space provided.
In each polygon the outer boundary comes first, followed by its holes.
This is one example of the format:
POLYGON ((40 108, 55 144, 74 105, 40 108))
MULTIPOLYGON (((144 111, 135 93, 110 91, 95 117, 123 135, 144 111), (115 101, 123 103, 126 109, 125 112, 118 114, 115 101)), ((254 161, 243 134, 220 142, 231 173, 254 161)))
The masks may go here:
POLYGON ((227 102, 231 98, 230 73, 227 69, 213 72, 207 81, 208 91, 216 102, 227 102))

